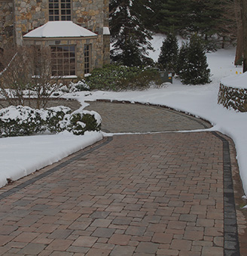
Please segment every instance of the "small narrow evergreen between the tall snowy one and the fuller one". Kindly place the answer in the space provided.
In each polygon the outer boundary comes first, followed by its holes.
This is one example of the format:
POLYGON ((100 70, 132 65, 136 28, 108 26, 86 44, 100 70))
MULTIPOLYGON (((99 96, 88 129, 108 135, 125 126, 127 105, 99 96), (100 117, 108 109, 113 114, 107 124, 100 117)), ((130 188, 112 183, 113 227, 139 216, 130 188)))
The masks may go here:
POLYGON ((170 32, 163 41, 158 63, 163 69, 175 72, 178 60, 178 39, 174 33, 170 32))

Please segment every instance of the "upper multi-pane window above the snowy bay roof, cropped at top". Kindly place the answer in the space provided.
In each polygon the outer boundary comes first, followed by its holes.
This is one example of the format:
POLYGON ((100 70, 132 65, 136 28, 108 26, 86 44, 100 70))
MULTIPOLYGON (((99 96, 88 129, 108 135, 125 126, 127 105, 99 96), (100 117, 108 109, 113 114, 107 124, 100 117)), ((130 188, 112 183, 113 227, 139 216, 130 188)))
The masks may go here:
POLYGON ((49 20, 72 20, 71 0, 49 0, 49 20))

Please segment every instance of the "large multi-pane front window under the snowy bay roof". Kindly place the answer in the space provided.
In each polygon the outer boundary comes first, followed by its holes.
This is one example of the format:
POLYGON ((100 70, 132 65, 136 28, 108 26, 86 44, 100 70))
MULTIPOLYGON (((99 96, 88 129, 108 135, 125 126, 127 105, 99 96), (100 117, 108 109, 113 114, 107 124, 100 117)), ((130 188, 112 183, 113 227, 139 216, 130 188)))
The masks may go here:
POLYGON ((51 46, 52 76, 75 76, 75 45, 51 46))

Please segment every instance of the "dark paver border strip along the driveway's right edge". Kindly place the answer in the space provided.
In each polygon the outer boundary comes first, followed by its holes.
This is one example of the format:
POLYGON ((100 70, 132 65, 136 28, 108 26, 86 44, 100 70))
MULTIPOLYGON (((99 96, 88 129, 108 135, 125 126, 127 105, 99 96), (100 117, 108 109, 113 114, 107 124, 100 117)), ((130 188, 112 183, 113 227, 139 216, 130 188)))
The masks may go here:
POLYGON ((233 177, 230 163, 229 142, 212 131, 223 143, 223 180, 224 180, 224 255, 239 256, 239 236, 236 222, 236 208, 233 191, 233 177))

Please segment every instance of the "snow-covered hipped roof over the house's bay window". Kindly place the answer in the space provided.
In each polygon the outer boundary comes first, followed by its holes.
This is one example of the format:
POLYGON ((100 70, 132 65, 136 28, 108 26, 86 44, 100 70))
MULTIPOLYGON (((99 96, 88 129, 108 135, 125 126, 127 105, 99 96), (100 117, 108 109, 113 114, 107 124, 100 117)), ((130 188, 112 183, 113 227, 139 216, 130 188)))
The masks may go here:
POLYGON ((54 38, 54 37, 87 37, 97 36, 95 33, 72 21, 48 21, 43 26, 33 29, 24 38, 54 38))

